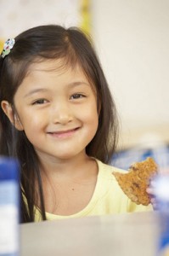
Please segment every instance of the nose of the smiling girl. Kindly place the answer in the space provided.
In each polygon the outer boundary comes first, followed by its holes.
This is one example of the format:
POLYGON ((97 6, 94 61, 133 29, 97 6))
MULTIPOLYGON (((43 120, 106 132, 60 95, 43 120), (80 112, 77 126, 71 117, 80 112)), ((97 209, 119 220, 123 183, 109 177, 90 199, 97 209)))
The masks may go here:
POLYGON ((59 103, 52 110, 52 121, 54 124, 66 125, 72 120, 72 113, 69 104, 59 103))

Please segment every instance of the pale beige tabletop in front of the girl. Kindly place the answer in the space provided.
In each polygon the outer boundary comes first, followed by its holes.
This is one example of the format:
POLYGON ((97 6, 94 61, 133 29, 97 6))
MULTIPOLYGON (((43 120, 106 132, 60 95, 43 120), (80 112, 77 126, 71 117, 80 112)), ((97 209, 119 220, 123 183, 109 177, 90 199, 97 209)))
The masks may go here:
POLYGON ((137 212, 20 224, 20 256, 155 256, 158 216, 137 212))

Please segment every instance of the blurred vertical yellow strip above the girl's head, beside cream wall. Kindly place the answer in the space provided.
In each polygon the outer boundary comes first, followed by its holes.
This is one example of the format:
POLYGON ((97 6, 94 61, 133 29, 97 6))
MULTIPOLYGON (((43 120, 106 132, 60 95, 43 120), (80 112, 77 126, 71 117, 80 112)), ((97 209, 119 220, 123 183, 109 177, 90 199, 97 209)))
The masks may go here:
POLYGON ((83 32, 87 34, 91 33, 91 1, 90 0, 82 0, 81 6, 81 16, 82 23, 81 28, 83 32))

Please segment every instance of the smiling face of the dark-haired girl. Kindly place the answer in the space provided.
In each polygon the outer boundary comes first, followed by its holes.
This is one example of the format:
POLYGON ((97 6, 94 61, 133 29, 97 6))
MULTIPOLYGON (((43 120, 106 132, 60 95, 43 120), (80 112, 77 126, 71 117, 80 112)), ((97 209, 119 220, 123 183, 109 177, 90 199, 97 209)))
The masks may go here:
POLYGON ((14 96, 16 128, 25 131, 41 159, 86 154, 99 124, 93 84, 78 66, 57 67, 59 60, 33 64, 14 96))

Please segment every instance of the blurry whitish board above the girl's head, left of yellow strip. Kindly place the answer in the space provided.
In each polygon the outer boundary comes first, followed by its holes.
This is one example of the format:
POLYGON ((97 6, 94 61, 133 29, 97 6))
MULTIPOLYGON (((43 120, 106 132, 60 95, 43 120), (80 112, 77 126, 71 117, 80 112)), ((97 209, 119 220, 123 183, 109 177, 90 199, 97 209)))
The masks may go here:
POLYGON ((79 26, 79 0, 0 0, 0 39, 15 37, 31 26, 79 26))

